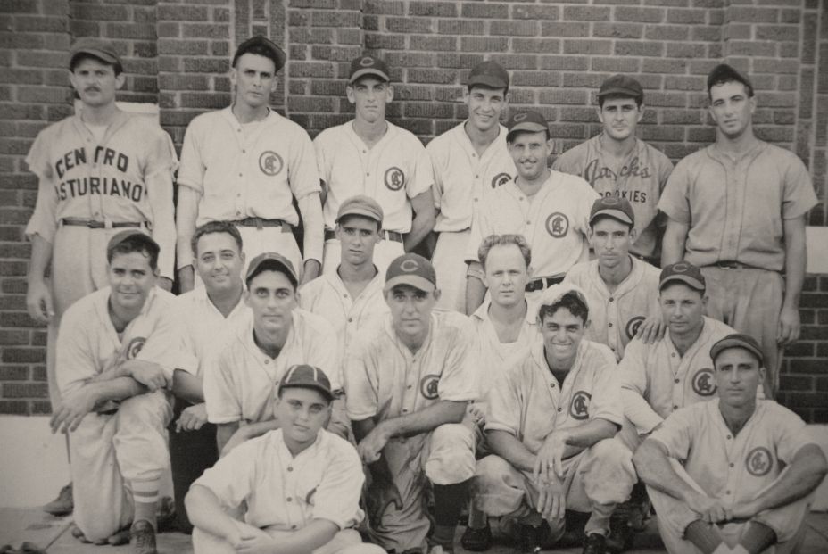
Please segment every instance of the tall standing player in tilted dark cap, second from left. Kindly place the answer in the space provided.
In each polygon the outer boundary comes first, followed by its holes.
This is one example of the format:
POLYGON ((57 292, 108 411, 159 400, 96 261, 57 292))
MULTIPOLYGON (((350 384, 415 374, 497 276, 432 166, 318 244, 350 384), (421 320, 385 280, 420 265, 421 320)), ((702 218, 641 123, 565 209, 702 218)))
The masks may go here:
POLYGON ((182 291, 194 285, 195 227, 208 221, 239 227, 248 260, 279 252, 302 274, 302 283, 319 275, 322 206, 313 144, 303 128, 268 107, 284 65, 281 48, 265 37, 248 38, 233 56, 233 104, 199 115, 186 129, 176 211, 182 291), (300 215, 303 265, 293 234, 300 215))

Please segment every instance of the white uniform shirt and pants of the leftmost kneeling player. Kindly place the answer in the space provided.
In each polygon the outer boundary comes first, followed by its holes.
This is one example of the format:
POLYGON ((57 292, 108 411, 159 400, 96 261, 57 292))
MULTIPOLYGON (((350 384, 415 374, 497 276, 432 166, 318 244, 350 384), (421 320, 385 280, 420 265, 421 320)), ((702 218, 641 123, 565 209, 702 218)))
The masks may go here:
MULTIPOLYGON (((104 287, 87 294, 63 314, 56 374, 64 396, 126 360, 156 363, 171 382, 178 360, 172 294, 153 288, 141 313, 118 333, 109 314, 110 293, 104 287)), ((108 402, 72 432, 74 519, 90 541, 104 540, 129 525, 132 488, 157 481, 170 466, 166 426, 171 416, 170 393, 155 391, 108 402)))

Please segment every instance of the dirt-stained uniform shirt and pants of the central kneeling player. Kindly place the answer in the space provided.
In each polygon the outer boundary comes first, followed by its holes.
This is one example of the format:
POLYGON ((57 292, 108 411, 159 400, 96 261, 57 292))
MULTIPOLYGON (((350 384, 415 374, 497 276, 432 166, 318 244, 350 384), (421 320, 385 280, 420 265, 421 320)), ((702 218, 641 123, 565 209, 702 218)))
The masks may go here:
MULTIPOLYGON (((416 352, 397 337, 390 315, 354 337, 343 371, 352 420, 381 421, 439 401, 476 400, 479 376, 471 322, 457 312, 434 311, 429 326, 416 352)), ((426 479, 458 484, 474 475, 472 432, 462 424, 443 424, 430 433, 393 438, 382 456, 400 492, 402 509, 385 510, 382 524, 369 531, 372 540, 386 550, 425 549, 430 526, 423 498, 426 479)))

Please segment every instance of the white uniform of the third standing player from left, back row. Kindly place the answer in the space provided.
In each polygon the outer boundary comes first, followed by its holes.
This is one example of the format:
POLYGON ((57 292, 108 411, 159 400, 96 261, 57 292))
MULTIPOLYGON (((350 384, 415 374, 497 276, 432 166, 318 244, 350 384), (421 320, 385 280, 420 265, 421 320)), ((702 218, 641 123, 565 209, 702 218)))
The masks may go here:
MULTIPOLYGON (((322 208, 327 229, 336 227, 336 213, 346 199, 367 194, 383 208, 385 231, 411 230, 410 199, 431 186, 431 161, 417 136, 387 124, 385 135, 370 148, 353 130, 353 121, 327 128, 313 140, 319 177, 327 185, 322 208)), ((338 239, 325 241, 325 273, 336 272, 341 253, 338 239)), ((374 263, 385 274, 388 264, 403 253, 402 243, 386 237, 374 250, 374 263)))

